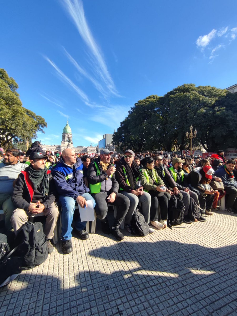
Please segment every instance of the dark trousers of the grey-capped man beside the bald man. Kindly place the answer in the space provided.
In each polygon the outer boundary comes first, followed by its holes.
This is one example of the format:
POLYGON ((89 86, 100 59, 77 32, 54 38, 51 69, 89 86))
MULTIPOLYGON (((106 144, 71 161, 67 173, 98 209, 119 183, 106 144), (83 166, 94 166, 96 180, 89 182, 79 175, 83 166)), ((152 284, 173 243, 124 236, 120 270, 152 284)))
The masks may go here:
MULTIPOLYGON (((107 193, 100 192, 100 193, 92 194, 92 197, 96 201, 96 206, 95 206, 96 216, 101 221, 104 221, 104 219, 107 216, 107 212, 108 212, 107 197, 109 195, 110 195, 110 192, 107 192, 107 193)), ((121 193, 117 193, 115 197, 115 201, 110 204, 113 204, 117 207, 117 214, 116 214, 116 218, 115 218, 113 226, 120 226, 130 206, 129 198, 124 196, 121 193)))

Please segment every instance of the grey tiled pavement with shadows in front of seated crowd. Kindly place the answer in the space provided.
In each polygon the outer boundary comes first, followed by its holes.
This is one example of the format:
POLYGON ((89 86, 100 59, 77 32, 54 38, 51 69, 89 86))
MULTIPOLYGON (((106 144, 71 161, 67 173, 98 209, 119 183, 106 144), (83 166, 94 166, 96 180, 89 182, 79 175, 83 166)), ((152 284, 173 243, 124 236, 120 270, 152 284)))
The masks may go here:
POLYGON ((61 243, 44 264, 0 289, 0 315, 237 315, 237 215, 165 228, 146 237, 123 230, 61 243))

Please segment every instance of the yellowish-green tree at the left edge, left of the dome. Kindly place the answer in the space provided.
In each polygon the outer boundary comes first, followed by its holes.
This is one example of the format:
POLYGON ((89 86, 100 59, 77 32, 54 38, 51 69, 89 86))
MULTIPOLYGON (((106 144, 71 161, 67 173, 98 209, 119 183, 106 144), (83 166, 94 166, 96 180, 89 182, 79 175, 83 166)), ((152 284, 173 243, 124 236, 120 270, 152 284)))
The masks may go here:
POLYGON ((31 142, 37 131, 47 127, 45 120, 22 106, 17 83, 6 70, 0 69, 0 145, 31 142))

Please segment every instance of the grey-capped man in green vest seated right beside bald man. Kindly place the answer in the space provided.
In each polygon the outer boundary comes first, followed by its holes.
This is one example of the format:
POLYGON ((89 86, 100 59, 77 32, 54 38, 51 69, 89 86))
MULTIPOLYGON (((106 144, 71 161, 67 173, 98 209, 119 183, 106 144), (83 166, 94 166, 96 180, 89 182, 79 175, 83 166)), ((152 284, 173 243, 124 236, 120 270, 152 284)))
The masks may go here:
POLYGON ((115 167, 110 163, 112 151, 102 149, 100 158, 95 159, 88 167, 87 177, 89 181, 90 192, 96 201, 95 212, 101 220, 102 231, 104 234, 110 234, 110 227, 107 218, 108 205, 114 204, 117 207, 117 215, 111 228, 111 234, 117 240, 123 240, 124 236, 120 231, 121 222, 127 214, 130 201, 123 194, 118 193, 119 185, 115 179, 115 167))

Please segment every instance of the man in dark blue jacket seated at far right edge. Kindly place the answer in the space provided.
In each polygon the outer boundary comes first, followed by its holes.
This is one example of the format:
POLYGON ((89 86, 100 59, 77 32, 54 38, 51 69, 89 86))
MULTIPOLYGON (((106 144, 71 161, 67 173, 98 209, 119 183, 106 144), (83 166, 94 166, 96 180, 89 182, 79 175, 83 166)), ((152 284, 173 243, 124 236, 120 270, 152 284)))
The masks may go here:
POLYGON ((229 195, 225 210, 237 214, 237 182, 233 173, 234 166, 234 159, 229 159, 225 165, 215 171, 214 175, 222 179, 225 191, 229 195))

